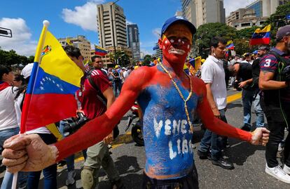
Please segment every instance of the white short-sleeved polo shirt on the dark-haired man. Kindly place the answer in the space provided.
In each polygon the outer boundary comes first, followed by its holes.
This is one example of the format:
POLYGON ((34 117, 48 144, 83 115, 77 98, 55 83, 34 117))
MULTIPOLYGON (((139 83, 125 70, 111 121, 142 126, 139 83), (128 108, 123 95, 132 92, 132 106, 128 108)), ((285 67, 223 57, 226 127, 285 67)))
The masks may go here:
POLYGON ((226 79, 223 61, 209 56, 201 67, 201 79, 206 84, 212 84, 212 95, 219 110, 226 107, 226 79))

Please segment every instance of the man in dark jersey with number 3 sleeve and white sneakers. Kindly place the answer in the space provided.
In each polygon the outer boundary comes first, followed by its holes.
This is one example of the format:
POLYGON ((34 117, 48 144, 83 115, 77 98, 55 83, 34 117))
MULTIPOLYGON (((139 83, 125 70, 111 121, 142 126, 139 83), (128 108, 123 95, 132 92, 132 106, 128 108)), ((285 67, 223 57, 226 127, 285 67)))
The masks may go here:
POLYGON ((269 142, 265 149, 265 172, 284 183, 290 183, 290 136, 284 148, 284 168, 277 162, 279 143, 284 138, 285 127, 290 124, 289 55, 290 25, 279 28, 277 45, 261 58, 258 86, 263 90, 261 105, 270 130, 269 142), (288 67, 287 67, 288 65, 288 67))

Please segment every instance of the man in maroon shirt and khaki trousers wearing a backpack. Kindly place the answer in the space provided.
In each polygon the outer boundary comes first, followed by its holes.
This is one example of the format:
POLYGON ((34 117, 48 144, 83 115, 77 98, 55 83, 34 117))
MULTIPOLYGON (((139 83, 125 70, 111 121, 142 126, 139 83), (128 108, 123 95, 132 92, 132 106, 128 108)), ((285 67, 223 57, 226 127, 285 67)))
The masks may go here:
MULTIPOLYGON (((83 87, 77 92, 84 115, 88 119, 99 117, 115 101, 109 78, 101 70, 102 59, 98 56, 93 56, 92 65, 95 70, 88 73, 83 87)), ((97 127, 98 125, 95 126, 97 127)), ((109 154, 108 144, 112 140, 113 132, 106 136, 103 141, 88 148, 87 159, 85 159, 83 171, 81 171, 81 182, 84 189, 95 188, 98 183, 98 172, 101 166, 105 169, 112 188, 123 187, 118 170, 109 154)))

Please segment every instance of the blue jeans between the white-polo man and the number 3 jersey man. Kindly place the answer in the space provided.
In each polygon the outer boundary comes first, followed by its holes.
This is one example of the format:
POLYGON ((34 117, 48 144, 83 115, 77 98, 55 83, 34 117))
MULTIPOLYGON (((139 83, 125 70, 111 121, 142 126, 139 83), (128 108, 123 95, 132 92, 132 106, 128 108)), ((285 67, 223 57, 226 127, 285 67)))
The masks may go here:
POLYGON ((251 128, 251 104, 254 103, 256 113, 256 126, 264 126, 264 112, 260 105, 259 95, 257 90, 242 90, 242 105, 244 107, 244 126, 251 128), (258 98, 257 100, 255 99, 258 98))

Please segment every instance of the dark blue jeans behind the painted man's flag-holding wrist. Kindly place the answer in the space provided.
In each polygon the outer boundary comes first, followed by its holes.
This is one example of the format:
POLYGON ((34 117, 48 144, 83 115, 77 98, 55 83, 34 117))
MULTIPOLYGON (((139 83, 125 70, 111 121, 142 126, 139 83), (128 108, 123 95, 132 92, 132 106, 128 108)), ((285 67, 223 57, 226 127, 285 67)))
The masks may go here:
MULTIPOLYGON (((39 136, 46 144, 52 144, 57 142, 57 139, 53 134, 39 133, 39 136)), ((57 164, 50 165, 50 167, 46 167, 42 171, 44 176, 44 189, 57 188, 57 164)), ((39 188, 40 176, 41 171, 29 172, 27 180, 27 188, 28 189, 39 188)))

